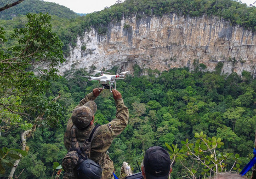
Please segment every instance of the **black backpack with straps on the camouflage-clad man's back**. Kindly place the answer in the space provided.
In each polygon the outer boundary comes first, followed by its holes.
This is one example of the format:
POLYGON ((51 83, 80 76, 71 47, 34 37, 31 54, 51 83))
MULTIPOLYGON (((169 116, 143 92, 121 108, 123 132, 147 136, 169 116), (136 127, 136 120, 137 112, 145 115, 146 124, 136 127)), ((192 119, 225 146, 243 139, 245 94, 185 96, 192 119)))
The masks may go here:
MULTIPOLYGON (((82 147, 79 146, 79 143, 76 139, 77 128, 75 126, 73 126, 71 128, 71 130, 70 130, 70 132, 71 132, 70 150, 67 152, 66 156, 62 160, 62 168, 65 171, 65 173, 63 175, 63 179, 79 178, 77 168, 79 168, 79 170, 80 170, 81 167, 79 167, 79 165, 81 165, 84 162, 84 160, 90 159, 90 146, 91 146, 92 140, 96 134, 95 130, 99 126, 100 125, 98 124, 93 128, 93 130, 90 132, 89 138, 84 140, 82 147)), ((98 164, 96 164, 96 165, 98 165, 98 164)), ((97 166, 97 168, 98 168, 98 166, 97 166)), ((95 169, 95 164, 94 164, 93 169, 95 169)), ((99 169, 100 169, 100 171, 102 171, 100 166, 99 166, 99 169)), ((97 172, 100 172, 100 171, 97 171, 97 172)), ((90 177, 90 178, 92 178, 92 177, 90 177)), ((95 177, 95 178, 98 178, 98 177, 95 177)))

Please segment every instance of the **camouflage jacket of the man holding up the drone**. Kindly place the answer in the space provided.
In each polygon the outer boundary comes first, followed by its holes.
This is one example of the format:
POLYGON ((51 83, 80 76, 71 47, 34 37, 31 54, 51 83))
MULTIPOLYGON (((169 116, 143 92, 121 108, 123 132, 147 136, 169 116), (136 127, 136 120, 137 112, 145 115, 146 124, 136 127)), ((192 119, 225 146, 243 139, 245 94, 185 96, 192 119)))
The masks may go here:
MULTIPOLYGON (((93 93, 87 94, 86 97, 82 99, 81 102, 79 102, 76 108, 84 105, 89 100, 94 100, 95 98, 96 97, 93 95, 93 93)), ((111 178, 114 169, 113 162, 106 152, 109 149, 113 139, 115 139, 117 135, 121 134, 124 128, 126 128, 129 120, 129 111, 128 108, 124 105, 123 99, 117 99, 115 100, 115 103, 116 118, 113 119, 111 122, 101 125, 96 129, 96 134, 92 141, 90 150, 90 159, 99 163, 99 165, 101 165, 101 168, 103 168, 103 179, 111 178)), ((70 148, 70 129, 72 128, 72 126, 73 123, 70 118, 67 122, 67 128, 64 136, 64 145, 67 150, 69 150, 70 148)), ((76 130, 76 136, 80 146, 82 146, 83 141, 87 138, 87 136, 90 134, 94 127, 95 126, 93 125, 89 126, 85 130, 76 130)))

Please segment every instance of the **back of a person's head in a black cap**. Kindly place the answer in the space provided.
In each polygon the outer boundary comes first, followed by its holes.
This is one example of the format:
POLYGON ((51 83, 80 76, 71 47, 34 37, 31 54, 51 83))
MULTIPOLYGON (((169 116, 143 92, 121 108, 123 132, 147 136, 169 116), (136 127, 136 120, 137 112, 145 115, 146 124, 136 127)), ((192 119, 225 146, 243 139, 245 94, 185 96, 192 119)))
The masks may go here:
POLYGON ((145 153, 141 171, 144 179, 167 179, 172 172, 169 153, 159 146, 150 147, 145 153))

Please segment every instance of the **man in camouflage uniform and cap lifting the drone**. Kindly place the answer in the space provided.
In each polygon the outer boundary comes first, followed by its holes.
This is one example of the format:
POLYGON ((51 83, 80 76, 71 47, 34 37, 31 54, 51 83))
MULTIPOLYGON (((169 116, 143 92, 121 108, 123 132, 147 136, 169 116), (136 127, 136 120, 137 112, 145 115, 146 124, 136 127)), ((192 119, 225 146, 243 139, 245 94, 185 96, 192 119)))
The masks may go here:
MULTIPOLYGON (((67 122, 67 128, 64 136, 64 145, 67 150, 70 149, 70 139, 71 139, 71 128, 76 126, 76 139, 79 145, 82 147, 84 140, 88 137, 92 129, 95 127, 94 114, 96 112, 96 104, 90 102, 89 110, 85 107, 87 102, 93 101, 99 96, 102 89, 95 88, 93 92, 86 95, 84 99, 79 102, 75 110, 72 113, 72 117, 67 122)), ((91 144, 90 159, 99 163, 103 169, 102 178, 110 179, 113 178, 113 162, 107 155, 107 150, 109 149, 113 139, 121 134, 121 132, 126 128, 129 120, 128 108, 124 105, 122 95, 115 89, 112 89, 113 98, 116 103, 116 118, 111 122, 99 126, 95 131, 95 137, 91 144)))

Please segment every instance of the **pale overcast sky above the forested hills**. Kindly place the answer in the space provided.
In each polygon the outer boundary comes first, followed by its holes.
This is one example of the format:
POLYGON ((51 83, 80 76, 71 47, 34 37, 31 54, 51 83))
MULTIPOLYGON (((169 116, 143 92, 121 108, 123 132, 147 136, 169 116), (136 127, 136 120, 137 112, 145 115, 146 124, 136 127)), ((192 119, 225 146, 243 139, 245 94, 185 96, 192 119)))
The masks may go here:
MULTIPOLYGON (((43 0, 47 2, 54 2, 70 8, 75 13, 93 13, 94 11, 103 10, 105 7, 110 7, 115 4, 117 0, 43 0)), ((123 0, 124 1, 124 0, 123 0)), ((123 2, 122 1, 122 2, 123 2)), ((254 3, 256 0, 242 0, 242 3, 247 5, 254 3)), ((255 3, 256 4, 256 3, 255 3)))

